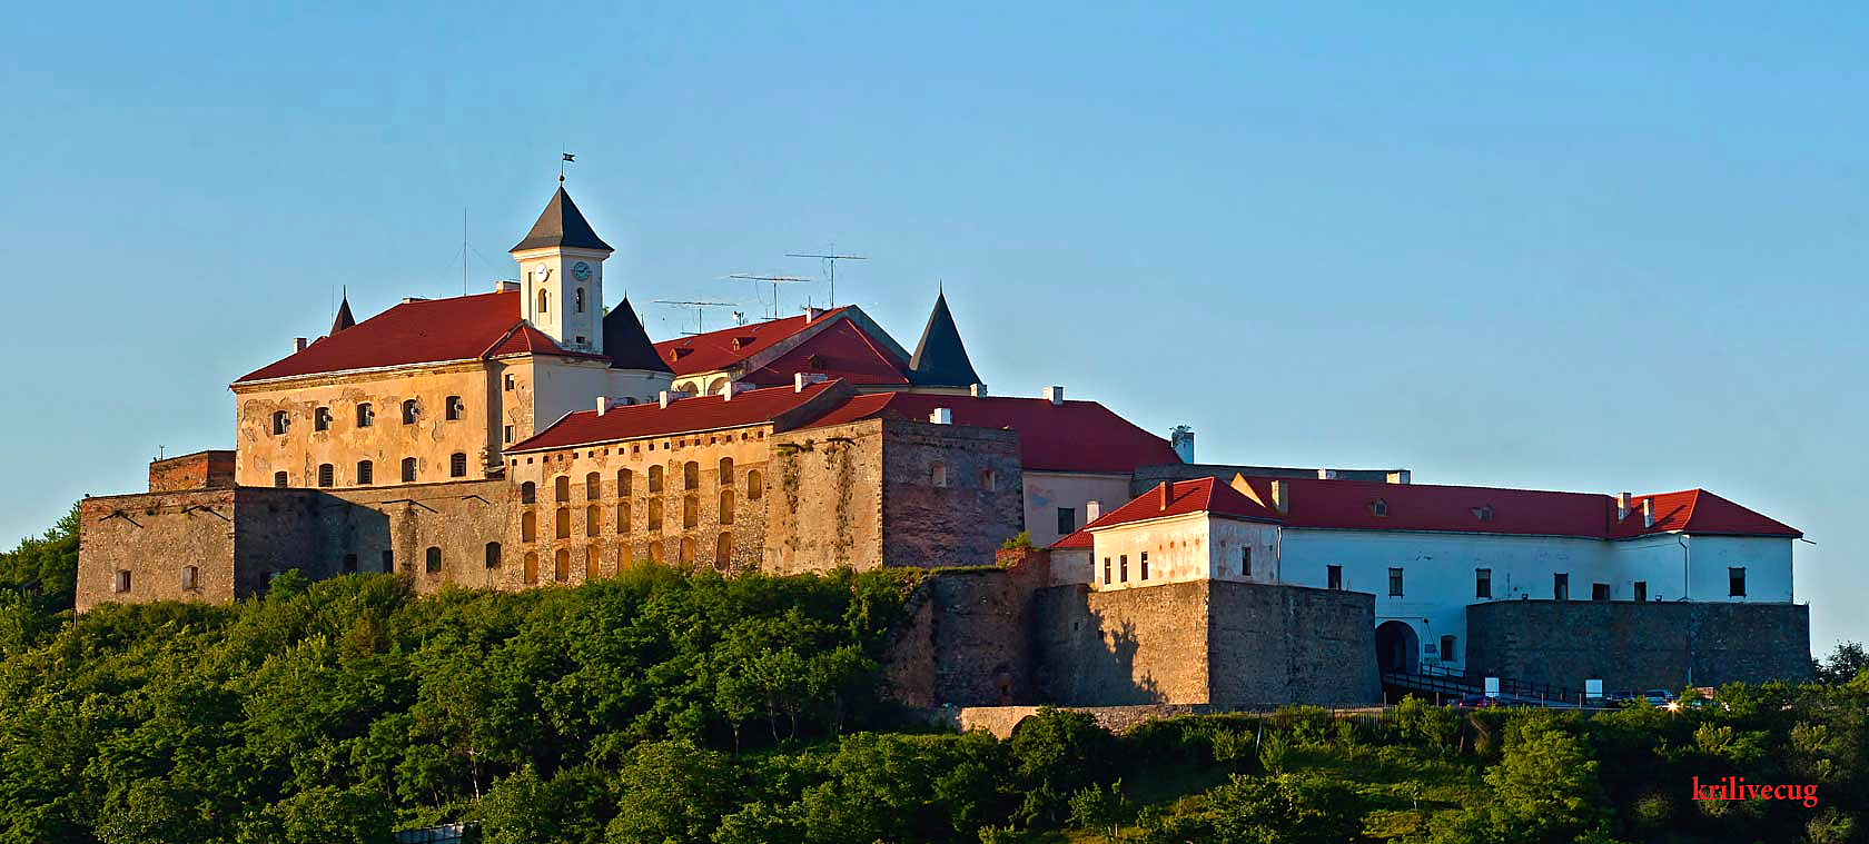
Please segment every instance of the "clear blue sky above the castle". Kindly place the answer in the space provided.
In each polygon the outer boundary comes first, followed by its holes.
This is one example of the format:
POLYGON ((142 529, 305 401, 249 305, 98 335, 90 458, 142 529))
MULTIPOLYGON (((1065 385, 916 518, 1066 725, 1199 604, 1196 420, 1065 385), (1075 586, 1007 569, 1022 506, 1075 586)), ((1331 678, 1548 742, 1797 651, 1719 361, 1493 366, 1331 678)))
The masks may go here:
POLYGON ((994 392, 1202 459, 1712 489, 1815 542, 1813 650, 1869 639, 1860 9, 893 6, 9 13, 0 540, 232 448, 340 286, 460 293, 464 215, 514 276, 570 149, 656 338, 835 243, 901 342, 944 280, 994 392))

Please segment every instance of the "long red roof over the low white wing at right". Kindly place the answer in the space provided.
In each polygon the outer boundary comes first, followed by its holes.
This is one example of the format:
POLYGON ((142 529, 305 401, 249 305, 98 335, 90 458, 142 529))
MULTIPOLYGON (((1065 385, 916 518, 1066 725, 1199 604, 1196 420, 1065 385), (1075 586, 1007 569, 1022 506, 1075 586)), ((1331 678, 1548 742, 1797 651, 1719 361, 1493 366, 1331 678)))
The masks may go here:
MULTIPOLYGON (((1230 485, 1213 482, 1215 489, 1230 485)), ((1628 515, 1617 519, 1617 500, 1596 493, 1549 493, 1536 489, 1454 487, 1430 484, 1381 484, 1363 480, 1247 478, 1252 497, 1273 502, 1273 480, 1288 484, 1288 512, 1277 513, 1252 504, 1250 513, 1269 513, 1286 527, 1338 530, 1445 530, 1473 534, 1583 536, 1626 540, 1671 530, 1727 536, 1804 536, 1796 528, 1746 510, 1705 489, 1660 493, 1634 499, 1628 515), (1643 527, 1643 502, 1656 502, 1656 521, 1643 527), (1377 506, 1381 502, 1381 506, 1377 506), (1381 513, 1381 515, 1377 515, 1381 513)), ((1078 534, 1052 547, 1088 547, 1088 530, 1125 521, 1176 515, 1194 506, 1183 504, 1181 484, 1170 512, 1159 508, 1159 489, 1123 504, 1090 523, 1078 534)), ((1239 495, 1237 491, 1234 495, 1239 495)), ((1248 497, 1239 495, 1239 499, 1248 497)), ((1213 512, 1241 515, 1237 502, 1209 504, 1213 512)), ((1265 515, 1243 515, 1265 517, 1265 515)))

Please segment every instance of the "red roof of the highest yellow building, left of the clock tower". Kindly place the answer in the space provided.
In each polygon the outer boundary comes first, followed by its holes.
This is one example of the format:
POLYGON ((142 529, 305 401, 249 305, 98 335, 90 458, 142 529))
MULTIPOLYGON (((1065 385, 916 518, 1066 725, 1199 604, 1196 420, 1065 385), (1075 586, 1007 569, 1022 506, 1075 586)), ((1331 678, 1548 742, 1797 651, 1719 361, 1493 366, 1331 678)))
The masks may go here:
POLYGON ((336 334, 318 338, 235 383, 320 372, 372 370, 379 366, 471 360, 531 351, 535 355, 587 357, 561 349, 546 334, 520 321, 520 293, 478 293, 396 304, 336 334), (516 331, 518 329, 518 331, 516 331))

